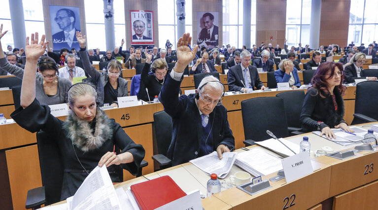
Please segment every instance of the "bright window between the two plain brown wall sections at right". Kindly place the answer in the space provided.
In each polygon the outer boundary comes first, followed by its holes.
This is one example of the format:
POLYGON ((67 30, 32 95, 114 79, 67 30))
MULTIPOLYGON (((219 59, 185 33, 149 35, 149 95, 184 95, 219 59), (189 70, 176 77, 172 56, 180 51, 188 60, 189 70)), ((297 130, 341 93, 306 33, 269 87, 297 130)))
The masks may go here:
POLYGON ((287 0, 286 2, 286 39, 287 45, 302 47, 309 44, 311 22, 311 0, 287 0))

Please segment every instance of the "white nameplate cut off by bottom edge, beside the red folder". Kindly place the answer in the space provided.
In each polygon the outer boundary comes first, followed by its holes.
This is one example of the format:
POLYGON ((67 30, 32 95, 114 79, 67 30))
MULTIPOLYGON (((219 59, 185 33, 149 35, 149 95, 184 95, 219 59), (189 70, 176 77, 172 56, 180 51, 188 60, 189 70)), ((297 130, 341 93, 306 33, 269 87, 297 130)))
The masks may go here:
POLYGON ((163 205, 155 210, 203 210, 200 190, 194 190, 188 195, 163 205))

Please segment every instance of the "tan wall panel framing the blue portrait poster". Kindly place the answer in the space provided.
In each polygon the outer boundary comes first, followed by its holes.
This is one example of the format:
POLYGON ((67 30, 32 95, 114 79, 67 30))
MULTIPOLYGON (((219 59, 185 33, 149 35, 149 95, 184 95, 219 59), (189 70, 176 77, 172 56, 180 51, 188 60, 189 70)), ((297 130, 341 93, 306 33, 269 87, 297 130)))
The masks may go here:
MULTIPOLYGON (((80 11, 80 29, 83 35, 87 34, 86 24, 85 24, 85 9, 84 0, 42 0, 43 6, 43 19, 45 23, 45 33, 46 39, 51 43, 50 48, 52 48, 52 34, 51 34, 51 22, 50 22, 50 9, 49 5, 60 5, 60 6, 75 6, 79 7, 80 11)), ((30 34, 26 34, 30 36, 30 34)))

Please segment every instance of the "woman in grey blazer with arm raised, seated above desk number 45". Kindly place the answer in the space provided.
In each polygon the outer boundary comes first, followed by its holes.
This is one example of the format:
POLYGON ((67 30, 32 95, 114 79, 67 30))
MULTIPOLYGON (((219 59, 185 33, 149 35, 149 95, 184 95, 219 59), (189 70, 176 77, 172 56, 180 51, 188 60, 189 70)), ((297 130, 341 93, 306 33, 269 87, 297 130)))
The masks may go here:
POLYGON ((85 71, 96 81, 100 89, 103 87, 103 93, 100 92, 101 100, 103 100, 104 104, 118 107, 117 98, 129 96, 127 92, 127 80, 119 77, 122 70, 121 62, 118 60, 110 60, 107 63, 106 71, 97 71, 89 62, 89 57, 85 50, 85 36, 82 36, 81 32, 77 31, 76 39, 80 45, 79 55, 85 71))

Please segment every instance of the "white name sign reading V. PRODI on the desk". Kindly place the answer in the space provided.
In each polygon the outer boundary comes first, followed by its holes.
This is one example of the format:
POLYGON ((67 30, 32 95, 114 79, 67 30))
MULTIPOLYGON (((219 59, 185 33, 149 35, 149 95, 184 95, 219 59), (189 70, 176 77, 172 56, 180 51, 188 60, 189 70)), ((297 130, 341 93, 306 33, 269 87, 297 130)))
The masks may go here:
POLYGON ((304 177, 313 172, 309 153, 299 153, 281 160, 286 183, 304 177))

